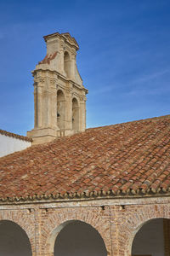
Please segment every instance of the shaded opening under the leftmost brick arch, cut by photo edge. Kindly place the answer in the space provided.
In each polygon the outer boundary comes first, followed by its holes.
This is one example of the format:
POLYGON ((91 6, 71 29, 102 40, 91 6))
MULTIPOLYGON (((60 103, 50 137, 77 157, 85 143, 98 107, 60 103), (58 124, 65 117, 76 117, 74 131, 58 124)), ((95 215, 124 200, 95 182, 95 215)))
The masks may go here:
POLYGON ((0 221, 0 255, 31 256, 31 244, 25 230, 12 221, 0 221))

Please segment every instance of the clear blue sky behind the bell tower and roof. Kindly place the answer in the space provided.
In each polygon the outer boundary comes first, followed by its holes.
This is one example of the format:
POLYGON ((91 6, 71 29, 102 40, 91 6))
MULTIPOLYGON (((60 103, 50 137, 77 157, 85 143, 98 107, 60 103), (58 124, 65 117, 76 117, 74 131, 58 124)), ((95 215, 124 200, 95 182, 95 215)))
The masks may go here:
POLYGON ((53 32, 80 45, 88 127, 169 114, 169 14, 169 0, 1 0, 0 128, 33 128, 31 70, 53 32))

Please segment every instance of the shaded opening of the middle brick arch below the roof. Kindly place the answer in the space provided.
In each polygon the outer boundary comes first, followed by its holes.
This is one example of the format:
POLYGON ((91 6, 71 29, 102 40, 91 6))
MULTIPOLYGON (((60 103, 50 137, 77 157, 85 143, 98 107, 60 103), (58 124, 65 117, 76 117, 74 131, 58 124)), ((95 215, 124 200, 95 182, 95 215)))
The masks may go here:
MULTIPOLYGON (((57 236, 57 234, 55 235, 57 236)), ((105 243, 90 224, 73 220, 62 225, 54 243, 54 256, 106 256, 105 243)))

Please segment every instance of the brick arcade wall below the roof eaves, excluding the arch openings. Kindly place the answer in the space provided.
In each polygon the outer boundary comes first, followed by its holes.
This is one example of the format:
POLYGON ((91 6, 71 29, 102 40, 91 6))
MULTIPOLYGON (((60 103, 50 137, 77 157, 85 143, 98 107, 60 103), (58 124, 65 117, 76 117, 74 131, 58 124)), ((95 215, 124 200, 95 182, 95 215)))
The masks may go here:
POLYGON ((33 256, 52 256, 55 238, 69 220, 80 220, 98 230, 108 255, 129 256, 134 236, 143 224, 153 218, 170 218, 168 197, 41 202, 0 207, 0 220, 14 221, 26 231, 33 256))

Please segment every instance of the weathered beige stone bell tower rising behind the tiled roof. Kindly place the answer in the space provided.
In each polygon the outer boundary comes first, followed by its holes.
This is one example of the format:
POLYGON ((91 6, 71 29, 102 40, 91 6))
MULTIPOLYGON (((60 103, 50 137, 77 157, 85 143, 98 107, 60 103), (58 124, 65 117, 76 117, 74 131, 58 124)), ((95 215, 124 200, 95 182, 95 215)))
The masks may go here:
POLYGON ((34 77, 33 144, 69 136, 86 129, 86 94, 77 70, 77 41, 70 33, 43 37, 47 55, 32 72, 34 77))

